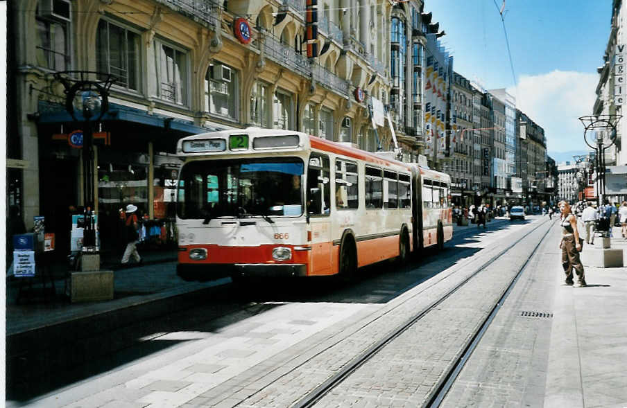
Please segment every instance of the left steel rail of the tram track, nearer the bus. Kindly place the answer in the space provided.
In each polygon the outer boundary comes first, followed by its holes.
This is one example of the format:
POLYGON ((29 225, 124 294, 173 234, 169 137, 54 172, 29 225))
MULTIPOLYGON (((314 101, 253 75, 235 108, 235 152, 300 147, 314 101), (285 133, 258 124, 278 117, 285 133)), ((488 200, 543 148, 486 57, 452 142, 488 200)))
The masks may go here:
MULTIPOLYGON (((516 240, 515 242, 510 244, 508 247, 506 247, 505 249, 499 251, 498 254, 496 254, 495 256, 492 256, 492 258, 490 258, 485 263, 483 263, 481 266, 479 266, 474 272, 472 272, 472 274, 470 274, 469 276, 464 278, 463 281, 461 281, 460 283, 455 285, 451 290, 449 290, 443 296, 441 296, 440 299, 437 299, 436 301, 433 301, 431 304, 427 305, 420 312, 418 312, 417 314, 414 314, 414 316, 411 317, 409 320, 407 320, 405 323, 403 323, 402 325, 398 326, 392 332, 389 332, 388 335, 386 335, 383 339, 379 340, 379 342, 377 342, 375 344, 372 344, 372 346, 367 348, 366 351, 363 351, 357 357, 354 357, 354 359, 352 359, 350 362, 348 362, 343 367, 343 369, 341 369, 341 371, 338 371, 338 373, 336 373, 335 375, 332 375, 332 377, 330 377, 327 380, 325 380, 325 382, 323 382, 318 387, 316 387, 314 390, 310 391, 306 396, 304 396, 303 398, 301 398, 300 400, 295 402, 295 404, 292 405, 291 407, 293 407, 293 408, 305 408, 305 407, 312 407, 312 406, 314 406, 314 404, 316 404, 316 402, 318 402, 327 393, 329 393, 329 391, 331 391, 332 389, 336 388, 341 382, 343 382, 352 373, 354 373, 354 371, 357 371, 357 369, 359 369, 359 367, 361 367, 363 364, 368 362, 368 360, 370 360, 370 358, 372 358, 372 356, 377 354, 387 344, 392 342, 398 336, 402 335, 403 332, 405 332, 407 329, 409 329, 411 326, 413 326, 413 324, 415 324, 418 320, 422 319, 422 317, 424 317, 426 314, 431 312, 431 310, 433 310, 434 308, 438 307, 438 305, 440 305, 440 303, 443 303, 443 301, 445 301, 450 296, 452 296, 452 294, 457 292, 461 287, 463 287, 466 283, 468 283, 468 281, 470 281, 472 278, 474 278, 476 275, 478 275, 480 272, 482 272, 483 269, 486 269, 486 267, 488 267, 490 264, 494 263, 495 260, 497 260, 501 255, 505 254, 507 251, 509 251, 510 249, 515 247, 518 244, 518 242, 520 242, 520 241, 524 240, 525 238, 527 238, 529 235, 531 235, 531 233, 533 233, 536 230, 540 229, 540 227, 543 227, 544 224, 546 224, 548 221, 549 220, 542 222, 540 225, 538 225, 538 227, 533 228, 531 231, 529 231, 528 233, 524 234, 524 236, 522 236, 521 238, 519 238, 518 240, 516 240)), ((549 230, 550 230, 550 228, 549 228, 549 230)), ((542 242, 542 240, 540 242, 542 242)), ((535 250, 534 250, 534 252, 535 252, 535 250)), ((532 253, 532 256, 533 256, 533 253, 532 253)), ((527 260, 526 262, 528 262, 528 261, 529 260, 527 260)), ((526 265, 526 263, 525 263, 525 265, 526 265)), ((439 388, 440 387, 438 387, 438 389, 439 388)))

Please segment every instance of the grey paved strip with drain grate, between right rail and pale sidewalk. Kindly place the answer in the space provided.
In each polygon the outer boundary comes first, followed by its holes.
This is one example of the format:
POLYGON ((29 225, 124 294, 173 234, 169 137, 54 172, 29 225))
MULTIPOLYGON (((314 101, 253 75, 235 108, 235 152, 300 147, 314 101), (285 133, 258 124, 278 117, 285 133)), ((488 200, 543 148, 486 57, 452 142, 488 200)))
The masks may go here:
POLYGON ((442 407, 542 407, 559 229, 553 228, 490 323, 442 407))

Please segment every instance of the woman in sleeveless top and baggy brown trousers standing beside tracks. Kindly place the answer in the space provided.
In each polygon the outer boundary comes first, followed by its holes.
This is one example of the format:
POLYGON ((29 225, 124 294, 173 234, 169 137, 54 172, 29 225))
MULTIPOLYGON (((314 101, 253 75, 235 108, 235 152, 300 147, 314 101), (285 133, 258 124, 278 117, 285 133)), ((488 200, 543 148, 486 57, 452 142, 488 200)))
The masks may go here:
POLYGON ((564 200, 560 201, 560 226, 562 227, 562 238, 560 240, 560 249, 562 249, 562 267, 566 274, 566 285, 574 285, 574 287, 584 287, 585 276, 583 274, 583 265, 579 259, 581 252, 581 240, 579 240, 579 232, 577 231, 577 219, 570 209, 570 205, 564 200), (573 269, 577 274, 577 283, 573 281, 573 269))

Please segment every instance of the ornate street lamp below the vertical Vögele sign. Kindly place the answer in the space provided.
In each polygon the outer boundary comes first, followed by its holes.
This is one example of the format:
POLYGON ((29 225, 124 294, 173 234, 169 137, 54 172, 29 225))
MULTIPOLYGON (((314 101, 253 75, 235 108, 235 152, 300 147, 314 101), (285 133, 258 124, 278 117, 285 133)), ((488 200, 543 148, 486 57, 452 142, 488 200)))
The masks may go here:
POLYGON ((616 141, 616 123, 621 115, 589 115, 581 116, 585 131, 583 140, 590 148, 596 150, 596 192, 599 208, 605 195, 605 150, 616 141))

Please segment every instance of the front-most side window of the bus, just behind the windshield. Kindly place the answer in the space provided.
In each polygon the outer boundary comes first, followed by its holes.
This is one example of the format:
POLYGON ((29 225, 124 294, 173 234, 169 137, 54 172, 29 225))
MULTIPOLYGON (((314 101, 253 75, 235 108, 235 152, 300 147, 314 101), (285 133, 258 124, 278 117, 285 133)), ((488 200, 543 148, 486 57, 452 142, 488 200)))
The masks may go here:
POLYGON ((329 215, 331 212, 331 180, 329 157, 311 154, 307 167, 307 214, 329 215))

